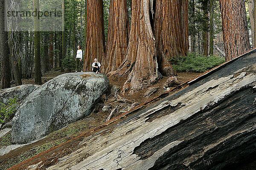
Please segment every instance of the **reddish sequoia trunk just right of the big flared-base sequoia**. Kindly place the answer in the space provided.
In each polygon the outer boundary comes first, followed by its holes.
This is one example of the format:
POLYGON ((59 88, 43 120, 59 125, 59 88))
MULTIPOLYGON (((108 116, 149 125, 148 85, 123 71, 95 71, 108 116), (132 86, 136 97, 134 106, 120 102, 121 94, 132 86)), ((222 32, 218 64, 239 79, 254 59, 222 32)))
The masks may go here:
POLYGON ((168 59, 186 55, 178 1, 156 0, 154 35, 156 37, 157 62, 160 73, 164 76, 176 74, 168 59))

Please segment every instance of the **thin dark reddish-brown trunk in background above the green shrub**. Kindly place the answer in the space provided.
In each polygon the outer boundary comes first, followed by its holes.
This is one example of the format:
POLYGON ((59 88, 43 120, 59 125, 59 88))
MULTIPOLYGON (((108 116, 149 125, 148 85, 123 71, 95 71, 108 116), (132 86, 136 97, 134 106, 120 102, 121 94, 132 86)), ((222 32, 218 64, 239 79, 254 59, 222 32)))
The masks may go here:
POLYGON ((204 55, 208 56, 208 31, 209 31, 209 25, 208 25, 208 2, 209 0, 203 0, 202 1, 202 9, 203 9, 203 15, 204 15, 204 21, 203 21, 203 50, 204 55))

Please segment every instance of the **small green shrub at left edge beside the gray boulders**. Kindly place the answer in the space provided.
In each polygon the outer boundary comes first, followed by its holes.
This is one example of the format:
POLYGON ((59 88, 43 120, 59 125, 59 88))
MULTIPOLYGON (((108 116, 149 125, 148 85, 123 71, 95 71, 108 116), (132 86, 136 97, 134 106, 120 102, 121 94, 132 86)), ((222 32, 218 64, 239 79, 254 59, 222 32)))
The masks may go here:
POLYGON ((15 97, 14 99, 9 99, 6 105, 3 103, 0 103, 0 124, 6 123, 12 119, 16 111, 16 106, 15 106, 16 103, 17 103, 17 97, 15 97))

